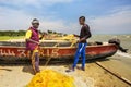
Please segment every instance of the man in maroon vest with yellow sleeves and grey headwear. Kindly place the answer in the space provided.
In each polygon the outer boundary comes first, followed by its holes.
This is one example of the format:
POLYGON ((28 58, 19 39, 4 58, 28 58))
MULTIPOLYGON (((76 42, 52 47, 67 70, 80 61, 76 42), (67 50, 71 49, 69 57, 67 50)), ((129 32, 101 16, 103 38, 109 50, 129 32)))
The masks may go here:
POLYGON ((39 70, 39 55, 38 55, 38 48, 39 48, 39 40, 43 39, 44 34, 39 38, 39 21, 34 18, 32 21, 32 27, 26 32, 26 51, 29 52, 29 58, 32 59, 32 65, 34 73, 40 72, 39 70))

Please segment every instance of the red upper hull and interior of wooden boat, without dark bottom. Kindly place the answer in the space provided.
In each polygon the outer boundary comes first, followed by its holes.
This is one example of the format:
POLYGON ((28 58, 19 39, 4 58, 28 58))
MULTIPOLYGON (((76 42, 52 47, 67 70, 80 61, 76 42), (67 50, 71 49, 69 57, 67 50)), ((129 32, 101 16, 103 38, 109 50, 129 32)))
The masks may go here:
MULTIPOLYGON (((70 47, 69 41, 44 41, 39 49, 40 59, 72 59, 76 51, 76 45, 70 47)), ((106 58, 117 52, 117 46, 107 45, 90 45, 86 47, 86 59, 106 58)), ((19 60, 28 59, 25 50, 25 42, 7 42, 0 41, 0 60, 19 60)))

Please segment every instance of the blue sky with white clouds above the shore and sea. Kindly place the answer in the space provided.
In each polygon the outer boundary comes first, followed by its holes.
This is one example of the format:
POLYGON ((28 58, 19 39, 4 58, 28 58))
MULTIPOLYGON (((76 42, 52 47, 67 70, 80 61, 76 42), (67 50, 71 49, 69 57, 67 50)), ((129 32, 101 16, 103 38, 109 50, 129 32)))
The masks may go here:
POLYGON ((92 34, 131 34, 131 0, 0 0, 0 30, 26 30, 38 18, 43 32, 79 34, 80 16, 92 34))

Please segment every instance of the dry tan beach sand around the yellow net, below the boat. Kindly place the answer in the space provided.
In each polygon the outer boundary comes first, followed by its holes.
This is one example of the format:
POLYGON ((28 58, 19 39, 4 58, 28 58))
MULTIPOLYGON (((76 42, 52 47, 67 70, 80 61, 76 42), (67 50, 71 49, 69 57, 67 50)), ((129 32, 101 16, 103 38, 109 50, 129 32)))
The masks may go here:
MULTIPOLYGON (((110 66, 110 69, 114 67, 114 70, 116 69, 115 66, 119 64, 114 63, 112 60, 109 61, 102 61, 102 63, 110 66)), ((118 79, 95 63, 86 63, 85 72, 76 69, 75 72, 67 73, 66 70, 68 70, 69 66, 70 65, 68 64, 51 64, 48 66, 40 65, 40 70, 51 69, 73 76, 76 79, 75 82, 79 87, 130 87, 128 84, 118 79)), ((119 73, 121 73, 121 71, 119 73)), ((124 74, 124 76, 127 75, 124 72, 122 72, 122 74, 124 74)), ((29 64, 0 65, 0 87, 25 87, 25 85, 32 79, 33 76, 33 70, 29 64)), ((128 76, 130 76, 129 73, 128 76)))

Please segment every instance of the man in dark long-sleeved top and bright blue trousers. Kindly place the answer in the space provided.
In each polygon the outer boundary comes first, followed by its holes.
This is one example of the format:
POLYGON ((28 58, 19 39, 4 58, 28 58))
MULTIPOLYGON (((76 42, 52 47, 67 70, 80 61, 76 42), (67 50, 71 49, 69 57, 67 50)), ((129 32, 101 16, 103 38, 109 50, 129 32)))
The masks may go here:
POLYGON ((90 32, 90 26, 87 24, 85 24, 85 16, 81 16, 79 18, 79 23, 80 23, 80 25, 82 25, 80 36, 74 34, 75 37, 80 38, 76 42, 78 44, 78 50, 76 50, 76 53, 74 55, 73 65, 67 72, 74 71, 74 69, 76 67, 76 64, 79 62, 80 55, 82 57, 82 67, 81 67, 81 70, 85 71, 85 58, 86 58, 85 57, 85 53, 86 53, 85 49, 86 49, 86 46, 87 46, 86 39, 88 39, 92 35, 91 35, 91 32, 90 32))

